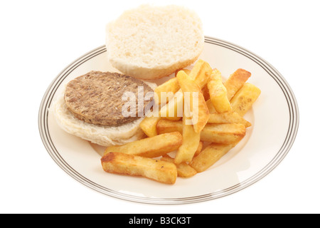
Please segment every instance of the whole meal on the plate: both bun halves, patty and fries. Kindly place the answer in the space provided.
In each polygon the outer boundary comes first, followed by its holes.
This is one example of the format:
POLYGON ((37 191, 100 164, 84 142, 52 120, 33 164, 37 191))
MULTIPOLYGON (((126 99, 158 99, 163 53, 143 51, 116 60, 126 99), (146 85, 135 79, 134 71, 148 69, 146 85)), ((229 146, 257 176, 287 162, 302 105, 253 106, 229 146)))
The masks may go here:
POLYGON ((190 9, 125 11, 106 27, 107 58, 121 73, 90 71, 68 82, 52 105, 58 125, 105 147, 105 172, 173 185, 208 170, 245 138, 245 113, 261 90, 242 68, 224 81, 199 58, 203 47, 190 9))

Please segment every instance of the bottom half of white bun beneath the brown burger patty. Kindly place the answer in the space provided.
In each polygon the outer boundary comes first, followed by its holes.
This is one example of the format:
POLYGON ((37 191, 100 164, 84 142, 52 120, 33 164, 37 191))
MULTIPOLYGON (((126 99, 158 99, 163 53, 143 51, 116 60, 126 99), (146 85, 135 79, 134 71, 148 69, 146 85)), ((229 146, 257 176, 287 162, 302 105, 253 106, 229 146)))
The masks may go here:
POLYGON ((60 95, 60 97, 53 103, 52 112, 56 123, 58 123, 59 127, 65 130, 65 132, 93 142, 97 145, 105 147, 109 147, 111 145, 122 145, 127 142, 133 142, 146 137, 139 127, 139 124, 144 118, 139 118, 138 120, 134 120, 132 123, 127 123, 117 127, 85 123, 84 121, 75 118, 75 116, 68 110, 63 95, 60 95))

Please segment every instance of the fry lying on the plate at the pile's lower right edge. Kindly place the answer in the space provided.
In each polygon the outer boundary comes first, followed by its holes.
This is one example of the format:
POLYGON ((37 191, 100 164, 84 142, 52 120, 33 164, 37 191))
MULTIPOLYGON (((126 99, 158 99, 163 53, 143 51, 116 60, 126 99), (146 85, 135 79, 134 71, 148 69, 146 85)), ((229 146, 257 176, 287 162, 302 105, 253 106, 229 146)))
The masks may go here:
POLYGON ((223 157, 223 155, 225 155, 233 147, 234 145, 211 143, 203 151, 201 151, 198 156, 193 158, 190 165, 197 172, 203 172, 215 164, 215 162, 220 160, 220 158, 223 157))

